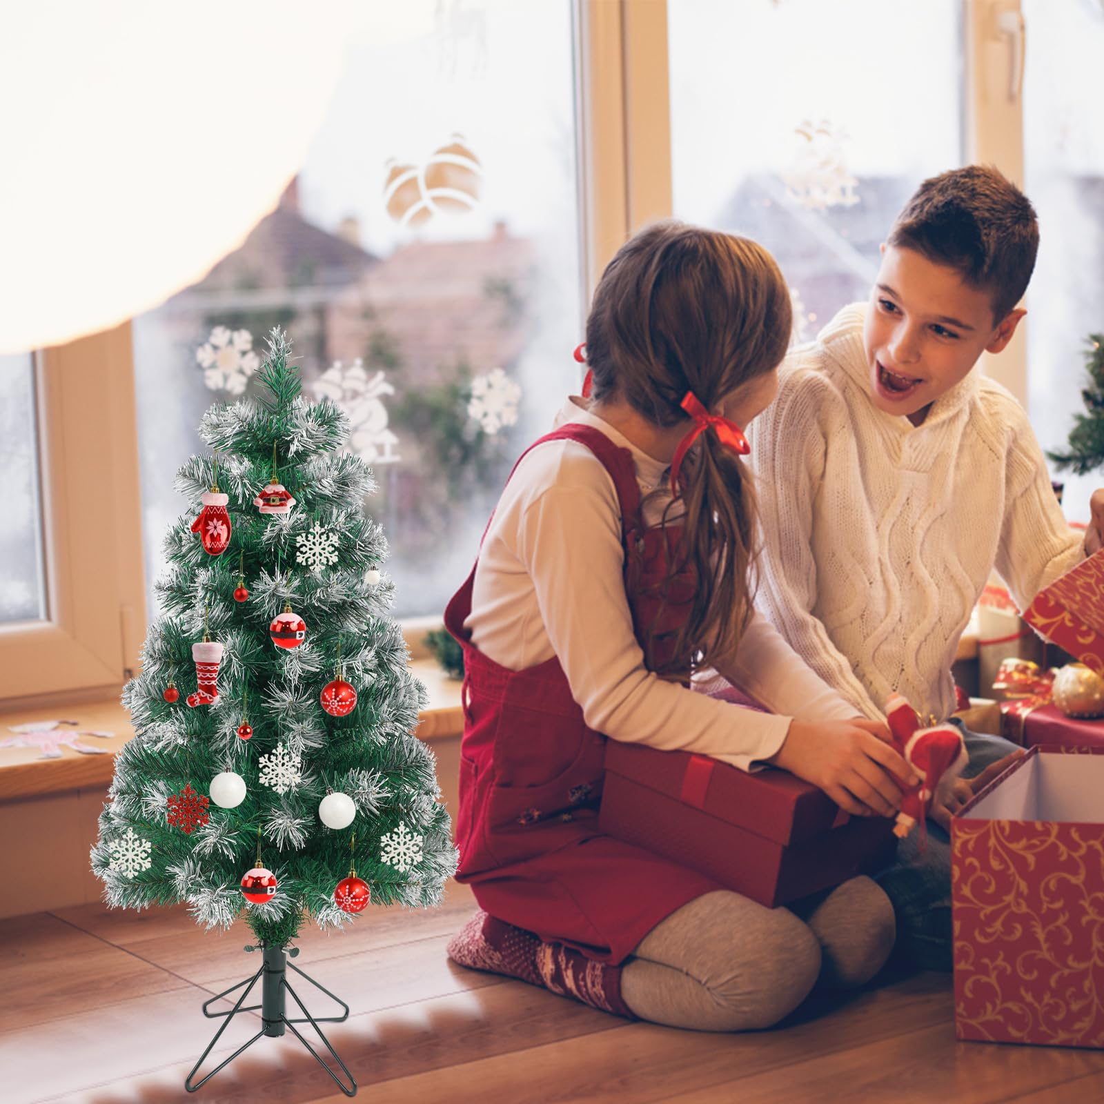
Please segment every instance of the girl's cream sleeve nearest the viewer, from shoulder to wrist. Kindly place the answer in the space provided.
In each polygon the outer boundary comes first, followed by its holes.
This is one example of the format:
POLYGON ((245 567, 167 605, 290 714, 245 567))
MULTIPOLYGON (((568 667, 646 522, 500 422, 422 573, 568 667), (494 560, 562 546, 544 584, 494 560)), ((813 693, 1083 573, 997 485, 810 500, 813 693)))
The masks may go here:
POLYGON ((792 718, 715 701, 645 667, 625 594, 613 484, 593 459, 571 468, 528 502, 517 546, 586 723, 614 740, 692 751, 745 771, 774 755, 792 718))

